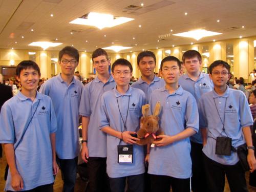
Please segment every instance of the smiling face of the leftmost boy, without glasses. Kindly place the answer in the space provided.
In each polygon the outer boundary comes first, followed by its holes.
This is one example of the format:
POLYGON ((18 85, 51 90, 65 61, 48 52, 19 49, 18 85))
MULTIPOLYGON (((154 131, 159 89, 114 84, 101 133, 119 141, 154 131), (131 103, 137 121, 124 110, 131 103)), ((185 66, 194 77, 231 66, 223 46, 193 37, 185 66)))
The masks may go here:
POLYGON ((40 76, 38 72, 33 68, 27 68, 20 71, 19 76, 16 76, 17 80, 22 85, 23 92, 34 92, 37 88, 40 76))

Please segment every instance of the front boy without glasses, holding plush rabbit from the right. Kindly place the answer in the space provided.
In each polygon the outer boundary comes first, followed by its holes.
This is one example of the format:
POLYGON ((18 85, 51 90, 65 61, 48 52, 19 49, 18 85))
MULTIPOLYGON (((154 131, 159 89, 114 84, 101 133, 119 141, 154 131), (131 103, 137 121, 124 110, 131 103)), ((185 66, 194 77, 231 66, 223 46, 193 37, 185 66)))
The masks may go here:
MULTIPOLYGON (((151 147, 148 174, 153 192, 190 192, 191 158, 189 137, 198 132, 196 99, 178 85, 181 76, 180 60, 167 56, 161 62, 165 86, 153 91, 151 110, 160 101, 162 110, 159 127, 164 135, 151 147)), ((152 110, 153 112, 153 110, 152 110)))

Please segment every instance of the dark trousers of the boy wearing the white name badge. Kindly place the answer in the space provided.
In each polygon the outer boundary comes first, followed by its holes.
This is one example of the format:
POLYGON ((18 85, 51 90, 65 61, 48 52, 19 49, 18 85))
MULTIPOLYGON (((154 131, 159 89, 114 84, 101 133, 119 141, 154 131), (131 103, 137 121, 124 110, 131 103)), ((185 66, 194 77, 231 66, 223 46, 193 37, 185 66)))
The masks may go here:
POLYGON ((127 177, 109 178, 112 192, 124 192, 127 179, 127 192, 144 191, 144 174, 132 175, 127 177))

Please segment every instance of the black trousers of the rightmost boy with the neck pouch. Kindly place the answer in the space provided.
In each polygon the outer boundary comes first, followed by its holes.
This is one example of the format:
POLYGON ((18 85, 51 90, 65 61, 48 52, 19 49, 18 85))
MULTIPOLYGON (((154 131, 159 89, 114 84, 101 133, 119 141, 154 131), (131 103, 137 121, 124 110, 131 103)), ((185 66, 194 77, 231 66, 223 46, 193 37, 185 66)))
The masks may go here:
POLYGON ((238 162, 235 165, 223 165, 203 155, 209 192, 223 192, 225 175, 231 192, 248 192, 245 172, 238 162))

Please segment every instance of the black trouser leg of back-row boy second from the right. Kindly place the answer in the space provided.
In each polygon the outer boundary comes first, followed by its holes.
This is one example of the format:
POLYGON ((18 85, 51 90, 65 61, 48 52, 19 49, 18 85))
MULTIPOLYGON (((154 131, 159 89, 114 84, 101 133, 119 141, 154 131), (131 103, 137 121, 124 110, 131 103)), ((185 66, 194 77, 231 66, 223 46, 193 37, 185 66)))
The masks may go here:
POLYGON ((205 170, 203 166, 203 145, 200 143, 191 143, 191 160, 192 160, 192 178, 191 186, 193 192, 205 192, 207 190, 205 170))

